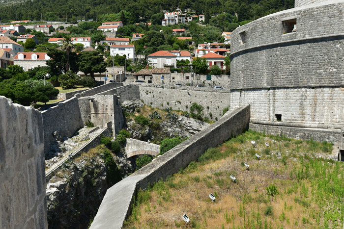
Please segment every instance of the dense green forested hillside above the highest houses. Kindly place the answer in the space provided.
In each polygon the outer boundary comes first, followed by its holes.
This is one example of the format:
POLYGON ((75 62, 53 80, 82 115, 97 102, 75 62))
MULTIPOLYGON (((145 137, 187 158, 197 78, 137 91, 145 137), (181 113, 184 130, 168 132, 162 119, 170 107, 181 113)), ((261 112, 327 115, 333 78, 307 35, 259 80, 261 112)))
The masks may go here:
POLYGON ((28 0, 24 3, 0 3, 1 22, 13 20, 99 19, 103 14, 130 12, 129 23, 149 22, 161 17, 161 11, 186 10, 189 14, 204 14, 206 20, 216 14, 234 23, 253 20, 292 8, 293 0, 28 0))

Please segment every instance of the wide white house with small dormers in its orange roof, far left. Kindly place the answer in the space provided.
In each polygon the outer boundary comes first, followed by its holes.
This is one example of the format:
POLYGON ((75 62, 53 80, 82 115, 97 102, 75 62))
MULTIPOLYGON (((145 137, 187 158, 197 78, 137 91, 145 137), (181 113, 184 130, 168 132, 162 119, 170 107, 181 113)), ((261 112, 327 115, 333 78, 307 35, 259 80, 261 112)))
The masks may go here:
POLYGON ((47 52, 18 52, 13 58, 14 64, 22 67, 24 71, 35 67, 47 66, 46 61, 50 60, 47 52))

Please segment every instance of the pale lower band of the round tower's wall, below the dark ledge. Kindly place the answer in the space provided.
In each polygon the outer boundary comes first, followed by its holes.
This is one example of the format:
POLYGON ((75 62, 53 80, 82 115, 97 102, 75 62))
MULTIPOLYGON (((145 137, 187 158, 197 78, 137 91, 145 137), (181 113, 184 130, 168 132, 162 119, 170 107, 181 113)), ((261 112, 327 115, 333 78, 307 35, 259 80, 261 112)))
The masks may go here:
MULTIPOLYGON (((333 128, 344 123, 344 87, 296 87, 231 90, 231 107, 251 104, 251 119, 302 122, 333 128)), ((323 127, 322 127, 323 128, 323 127)))

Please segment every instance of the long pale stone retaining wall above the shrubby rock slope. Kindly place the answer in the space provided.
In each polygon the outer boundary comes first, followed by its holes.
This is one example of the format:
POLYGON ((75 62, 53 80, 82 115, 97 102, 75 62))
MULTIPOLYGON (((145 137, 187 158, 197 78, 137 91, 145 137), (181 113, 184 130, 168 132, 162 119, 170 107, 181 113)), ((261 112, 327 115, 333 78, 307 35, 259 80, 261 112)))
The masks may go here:
POLYGON ((204 116, 213 119, 223 115, 223 109, 230 105, 230 92, 213 88, 168 86, 161 84, 140 85, 140 98, 147 105, 173 110, 190 111, 193 102, 202 105, 204 116), (209 108, 207 108, 209 107, 209 108))

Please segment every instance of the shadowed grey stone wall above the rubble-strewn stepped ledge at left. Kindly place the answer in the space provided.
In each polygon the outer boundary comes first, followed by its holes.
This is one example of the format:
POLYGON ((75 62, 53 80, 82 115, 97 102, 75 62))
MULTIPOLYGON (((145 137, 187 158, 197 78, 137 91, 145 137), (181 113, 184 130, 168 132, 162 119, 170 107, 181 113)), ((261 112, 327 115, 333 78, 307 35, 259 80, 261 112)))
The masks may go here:
POLYGON ((42 111, 44 126, 44 152, 48 153, 50 143, 54 141, 53 133, 70 137, 84 126, 79 109, 78 99, 73 97, 42 111))

